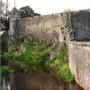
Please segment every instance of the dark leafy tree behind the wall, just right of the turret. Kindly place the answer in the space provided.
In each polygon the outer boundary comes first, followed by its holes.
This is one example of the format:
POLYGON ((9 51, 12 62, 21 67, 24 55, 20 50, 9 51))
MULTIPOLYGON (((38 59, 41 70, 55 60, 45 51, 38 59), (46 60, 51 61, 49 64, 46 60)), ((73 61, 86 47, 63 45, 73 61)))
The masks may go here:
POLYGON ((21 7, 19 12, 21 13, 21 18, 40 16, 40 14, 35 13, 34 10, 29 6, 21 7))

